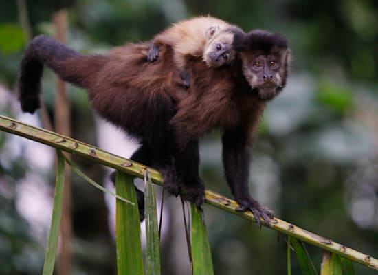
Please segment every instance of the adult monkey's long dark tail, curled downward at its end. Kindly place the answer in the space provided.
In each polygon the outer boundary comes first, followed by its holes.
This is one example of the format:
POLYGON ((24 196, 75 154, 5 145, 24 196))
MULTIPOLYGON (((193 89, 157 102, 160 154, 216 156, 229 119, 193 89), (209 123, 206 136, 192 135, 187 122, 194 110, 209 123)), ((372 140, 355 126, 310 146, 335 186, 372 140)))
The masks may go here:
POLYGON ((78 56, 82 54, 51 37, 40 35, 32 39, 20 64, 18 89, 21 109, 24 112, 34 113, 41 107, 39 95, 43 65, 47 65, 65 79, 69 68, 62 66, 61 62, 78 56))

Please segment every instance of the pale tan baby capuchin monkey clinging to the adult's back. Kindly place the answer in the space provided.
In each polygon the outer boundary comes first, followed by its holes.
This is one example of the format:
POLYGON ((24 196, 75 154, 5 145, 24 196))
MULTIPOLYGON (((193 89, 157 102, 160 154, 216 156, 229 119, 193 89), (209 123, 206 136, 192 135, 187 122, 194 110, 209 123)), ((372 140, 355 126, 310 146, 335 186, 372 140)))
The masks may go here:
POLYGON ((208 67, 230 65, 236 56, 232 47, 235 28, 215 17, 195 17, 175 23, 155 36, 147 60, 156 61, 160 47, 172 47, 175 65, 179 68, 184 86, 189 87, 190 76, 186 71, 185 56, 202 57, 208 67))

